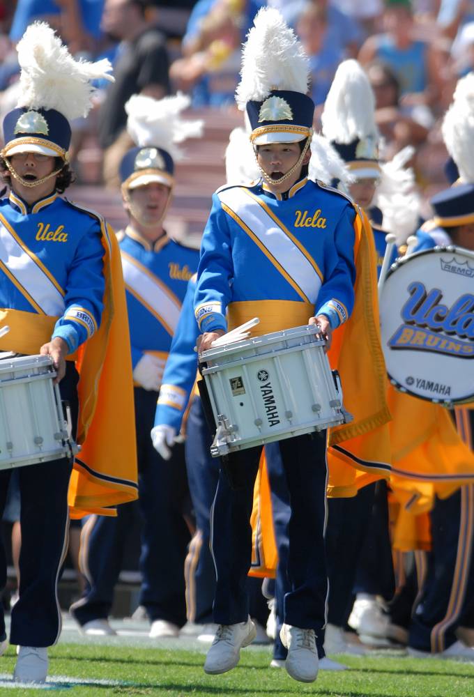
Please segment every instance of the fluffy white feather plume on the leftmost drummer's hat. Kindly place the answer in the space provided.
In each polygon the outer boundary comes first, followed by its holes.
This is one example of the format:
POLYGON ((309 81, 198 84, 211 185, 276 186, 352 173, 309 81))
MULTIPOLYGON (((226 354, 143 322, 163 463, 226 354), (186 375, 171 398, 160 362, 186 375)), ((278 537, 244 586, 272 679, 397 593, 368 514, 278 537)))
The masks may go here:
POLYGON ((17 107, 56 109, 72 121, 91 109, 91 80, 114 82, 108 75, 112 70, 109 61, 76 61, 45 22, 35 22, 26 29, 17 52, 22 68, 17 107))

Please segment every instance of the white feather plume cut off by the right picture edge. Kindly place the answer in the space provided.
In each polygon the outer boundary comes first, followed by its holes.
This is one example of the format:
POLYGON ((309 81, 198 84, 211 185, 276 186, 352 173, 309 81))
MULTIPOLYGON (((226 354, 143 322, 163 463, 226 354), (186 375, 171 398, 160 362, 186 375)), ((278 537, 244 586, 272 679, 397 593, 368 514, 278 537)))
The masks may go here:
POLYGON ((474 75, 459 80, 443 120, 443 140, 457 164, 459 178, 474 183, 474 75))

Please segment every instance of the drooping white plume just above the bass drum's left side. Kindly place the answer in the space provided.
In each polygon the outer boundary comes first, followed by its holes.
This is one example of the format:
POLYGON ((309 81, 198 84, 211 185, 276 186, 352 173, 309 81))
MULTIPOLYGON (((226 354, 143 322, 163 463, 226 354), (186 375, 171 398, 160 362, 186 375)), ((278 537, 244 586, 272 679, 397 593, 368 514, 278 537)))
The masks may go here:
POLYGON ((415 148, 407 146, 390 162, 381 164, 381 180, 376 189, 374 206, 383 214, 383 229, 396 237, 396 244, 404 244, 418 227, 420 194, 415 184, 415 174, 406 163, 411 160, 415 148))

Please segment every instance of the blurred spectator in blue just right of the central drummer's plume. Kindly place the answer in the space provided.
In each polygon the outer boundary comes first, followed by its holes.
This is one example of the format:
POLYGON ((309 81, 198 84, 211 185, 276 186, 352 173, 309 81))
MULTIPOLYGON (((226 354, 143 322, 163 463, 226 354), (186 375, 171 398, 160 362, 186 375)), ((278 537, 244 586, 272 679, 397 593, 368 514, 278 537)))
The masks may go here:
POLYGON ((311 97, 316 107, 326 100, 337 66, 345 58, 342 47, 330 40, 324 4, 308 3, 296 24, 296 31, 309 57, 311 97))

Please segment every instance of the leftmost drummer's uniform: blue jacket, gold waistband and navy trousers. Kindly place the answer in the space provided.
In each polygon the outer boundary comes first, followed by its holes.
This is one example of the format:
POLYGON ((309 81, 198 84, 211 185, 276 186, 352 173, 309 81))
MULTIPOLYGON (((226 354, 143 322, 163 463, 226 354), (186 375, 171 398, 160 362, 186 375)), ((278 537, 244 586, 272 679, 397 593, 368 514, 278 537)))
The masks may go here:
MULTIPOLYGON (((98 217, 56 193, 33 206, 13 192, 0 201, 0 316, 2 323, 10 325, 5 340, 15 351, 38 353, 41 344, 61 337, 72 354, 98 329, 105 289, 100 238, 98 217)), ((59 389, 62 399, 70 403, 73 435, 78 378, 74 362, 68 360, 59 389)), ((17 470, 22 553, 20 599, 12 611, 11 643, 46 647, 59 638, 56 582, 67 549, 71 470, 68 458, 17 470)), ((11 470, 0 472, 0 512, 10 474, 11 470)), ((0 587, 5 584, 3 565, 0 587)), ((0 639, 2 635, 5 638, 3 611, 0 639)))

